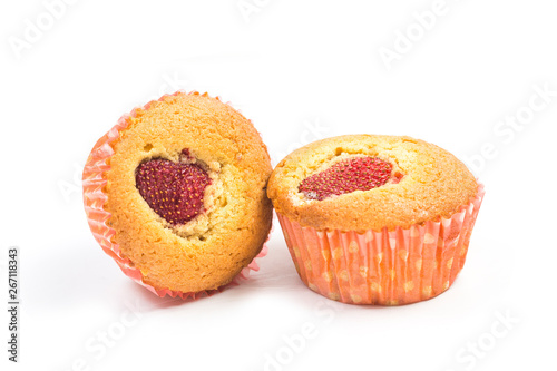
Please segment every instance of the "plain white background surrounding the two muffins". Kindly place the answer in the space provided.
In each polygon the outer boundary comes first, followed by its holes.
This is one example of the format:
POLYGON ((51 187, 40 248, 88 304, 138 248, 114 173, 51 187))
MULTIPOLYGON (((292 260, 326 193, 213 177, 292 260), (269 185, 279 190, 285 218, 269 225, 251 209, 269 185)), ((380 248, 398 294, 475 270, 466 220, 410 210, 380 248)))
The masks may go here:
POLYGON ((81 0, 49 22, 42 1, 2 1, 0 282, 6 299, 19 246, 21 313, 12 364, 1 311, 1 369, 555 370, 555 2, 447 0, 429 30, 412 16, 429 0, 243 3, 81 0), (277 223, 240 286, 182 302, 135 284, 88 230, 80 172, 121 114, 176 89, 232 101, 274 163, 350 133, 467 160, 487 195, 456 284, 401 307, 329 301, 297 277, 277 223))

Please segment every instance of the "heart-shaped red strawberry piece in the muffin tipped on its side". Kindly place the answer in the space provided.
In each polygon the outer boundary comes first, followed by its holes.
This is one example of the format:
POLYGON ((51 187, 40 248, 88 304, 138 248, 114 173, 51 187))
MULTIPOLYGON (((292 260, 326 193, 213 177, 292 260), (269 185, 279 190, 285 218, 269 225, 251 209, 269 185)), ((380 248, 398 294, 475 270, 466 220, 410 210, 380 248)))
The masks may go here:
POLYGON ((172 225, 204 212, 203 197, 211 178, 199 165, 155 158, 136 169, 136 186, 147 204, 172 225))

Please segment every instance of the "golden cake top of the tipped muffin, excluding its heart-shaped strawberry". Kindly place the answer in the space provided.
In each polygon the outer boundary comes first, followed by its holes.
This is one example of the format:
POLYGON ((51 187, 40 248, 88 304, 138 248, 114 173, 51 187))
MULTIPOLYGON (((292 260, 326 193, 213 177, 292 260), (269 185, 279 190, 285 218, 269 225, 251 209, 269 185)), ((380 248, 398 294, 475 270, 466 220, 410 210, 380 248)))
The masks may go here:
POLYGON ((157 289, 217 289, 240 273, 267 238, 272 205, 265 194, 272 172, 252 123, 207 95, 177 94, 137 109, 111 144, 105 173, 108 225, 124 257, 157 289), (173 226, 136 187, 136 169, 149 159, 178 162, 184 149, 211 177, 204 212, 173 226))

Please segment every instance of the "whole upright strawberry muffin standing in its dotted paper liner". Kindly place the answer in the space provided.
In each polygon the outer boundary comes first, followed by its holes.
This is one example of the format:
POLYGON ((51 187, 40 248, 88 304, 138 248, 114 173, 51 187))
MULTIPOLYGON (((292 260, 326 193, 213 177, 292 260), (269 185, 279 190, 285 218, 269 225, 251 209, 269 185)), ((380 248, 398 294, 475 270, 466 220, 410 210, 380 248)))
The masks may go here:
POLYGON ((302 281, 332 300, 379 305, 451 286, 483 194, 447 150, 379 135, 309 144, 276 166, 267 187, 302 281))

